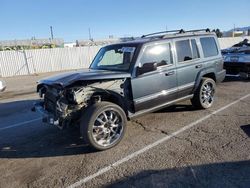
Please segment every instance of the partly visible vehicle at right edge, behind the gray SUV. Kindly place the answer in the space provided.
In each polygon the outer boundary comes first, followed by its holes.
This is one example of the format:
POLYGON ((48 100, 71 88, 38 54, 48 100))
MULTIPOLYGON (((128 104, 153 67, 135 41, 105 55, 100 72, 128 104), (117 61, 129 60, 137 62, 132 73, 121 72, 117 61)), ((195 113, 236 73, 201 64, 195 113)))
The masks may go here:
POLYGON ((227 74, 239 74, 243 78, 250 77, 250 43, 247 39, 222 50, 222 54, 227 74))

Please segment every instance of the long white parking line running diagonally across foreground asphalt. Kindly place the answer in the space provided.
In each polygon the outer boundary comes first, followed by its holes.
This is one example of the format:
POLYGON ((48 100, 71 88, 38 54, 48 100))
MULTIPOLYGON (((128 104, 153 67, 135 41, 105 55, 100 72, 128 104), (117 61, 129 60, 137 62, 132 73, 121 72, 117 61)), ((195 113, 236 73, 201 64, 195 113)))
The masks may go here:
POLYGON ((161 144, 161 143, 163 143, 163 142, 165 142, 165 141, 167 141, 167 140, 169 140, 169 139, 175 137, 176 135, 178 135, 178 134, 180 134, 180 133, 182 133, 182 132, 184 132, 184 131, 186 131, 186 130, 192 128, 192 127, 194 127, 195 125, 201 123, 202 121, 204 121, 204 120, 210 118, 212 115, 215 115, 215 114, 217 114, 217 113, 219 113, 219 112, 221 112, 221 111, 223 111, 223 110, 229 108, 230 106, 232 106, 232 105, 234 105, 234 104, 240 102, 241 100, 246 99, 246 98, 249 97, 249 96, 250 96, 250 94, 245 95, 244 97, 241 97, 240 99, 238 99, 238 100, 236 100, 236 101, 234 101, 234 102, 232 102, 232 103, 230 103, 230 104, 228 104, 228 105, 226 105, 226 106, 224 106, 224 107, 222 107, 222 108, 220 108, 220 109, 214 111, 213 113, 211 113, 211 114, 209 114, 209 115, 207 115, 207 116, 205 116, 205 117, 202 117, 202 118, 198 119, 198 120, 195 121, 195 122, 192 122, 192 123, 186 125, 185 127, 179 129, 178 131, 176 131, 176 132, 174 132, 174 133, 172 133, 172 134, 170 134, 170 135, 167 135, 167 136, 161 138, 160 140, 158 140, 158 141, 156 141, 156 142, 154 142, 154 143, 152 143, 152 144, 150 144, 150 145, 148 145, 148 146, 146 146, 146 147, 144 147, 144 148, 142 148, 142 149, 140 149, 140 150, 138 150, 138 151, 136 151, 136 152, 134 152, 134 153, 132 153, 132 154, 130 154, 130 155, 128 155, 128 156, 126 156, 126 157, 120 159, 120 160, 118 160, 118 161, 116 161, 115 163, 110 164, 109 166, 100 169, 100 170, 97 171, 96 173, 94 173, 94 174, 92 174, 92 175, 90 175, 90 176, 87 176, 87 177, 85 177, 85 178, 83 178, 83 179, 77 181, 76 183, 70 185, 68 188, 79 187, 79 186, 81 186, 82 184, 91 181, 92 179, 94 179, 94 178, 96 178, 96 177, 98 177, 98 176, 100 176, 100 175, 102 175, 102 174, 104 174, 104 173, 106 173, 106 172, 112 170, 113 168, 115 168, 115 167, 117 167, 117 166, 119 166, 119 165, 121 165, 121 164, 123 164, 123 163, 129 161, 130 159, 133 159, 133 158, 137 157, 138 155, 140 155, 140 154, 142 154, 142 153, 145 153, 146 151, 148 151, 148 150, 150 150, 150 149, 152 149, 152 148, 158 146, 159 144, 161 144))

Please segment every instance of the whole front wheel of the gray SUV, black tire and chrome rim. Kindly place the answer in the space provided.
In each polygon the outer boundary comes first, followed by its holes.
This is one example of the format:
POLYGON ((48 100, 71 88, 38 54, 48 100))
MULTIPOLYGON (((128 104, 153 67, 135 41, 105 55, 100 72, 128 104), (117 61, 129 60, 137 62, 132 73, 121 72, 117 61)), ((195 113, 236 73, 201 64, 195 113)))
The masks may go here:
POLYGON ((86 144, 96 150, 106 150, 123 138, 127 117, 121 107, 110 102, 89 106, 81 118, 80 128, 86 144))

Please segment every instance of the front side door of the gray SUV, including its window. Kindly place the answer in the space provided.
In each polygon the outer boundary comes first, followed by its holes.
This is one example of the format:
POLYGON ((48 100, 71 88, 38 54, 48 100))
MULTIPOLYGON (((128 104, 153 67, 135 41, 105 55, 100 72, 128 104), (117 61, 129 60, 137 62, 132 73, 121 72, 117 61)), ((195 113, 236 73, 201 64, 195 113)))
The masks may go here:
POLYGON ((143 70, 145 64, 149 63, 157 63, 156 70, 147 70, 147 72, 140 73, 131 80, 136 112, 164 106, 167 102, 177 98, 176 67, 170 42, 150 44, 143 47, 135 69, 141 67, 141 70, 143 70))

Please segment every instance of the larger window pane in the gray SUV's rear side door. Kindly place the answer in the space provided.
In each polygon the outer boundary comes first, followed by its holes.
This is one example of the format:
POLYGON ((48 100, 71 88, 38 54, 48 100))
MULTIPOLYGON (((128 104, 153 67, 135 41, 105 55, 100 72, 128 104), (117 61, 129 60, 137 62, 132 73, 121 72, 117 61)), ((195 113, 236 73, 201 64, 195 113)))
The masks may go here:
POLYGON ((180 40, 175 42, 178 62, 192 60, 192 50, 189 40, 180 40))

